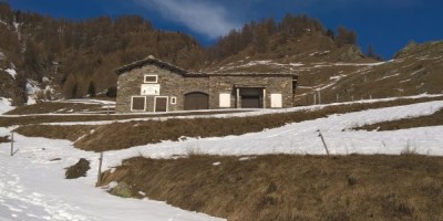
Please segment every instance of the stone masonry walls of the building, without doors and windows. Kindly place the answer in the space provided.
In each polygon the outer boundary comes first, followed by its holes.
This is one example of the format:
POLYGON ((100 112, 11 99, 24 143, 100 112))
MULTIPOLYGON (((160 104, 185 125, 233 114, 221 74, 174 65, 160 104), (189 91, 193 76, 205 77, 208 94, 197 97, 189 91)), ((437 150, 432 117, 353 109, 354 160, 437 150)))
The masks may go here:
MULTIPOLYGON (((182 74, 146 64, 132 69, 119 75, 116 112, 130 113, 132 96, 141 96, 141 85, 144 84, 144 75, 158 75, 159 95, 168 97, 168 110, 183 110, 185 95, 192 92, 202 92, 209 95, 209 108, 219 108, 219 94, 230 94, 230 108, 236 108, 235 85, 256 86, 266 88, 265 103, 270 107, 270 94, 281 94, 282 107, 291 107, 292 76, 251 76, 251 75, 190 75, 182 74), (176 97, 176 104, 171 104, 171 97, 176 97)), ((146 112, 154 112, 154 95, 146 96, 146 112)))

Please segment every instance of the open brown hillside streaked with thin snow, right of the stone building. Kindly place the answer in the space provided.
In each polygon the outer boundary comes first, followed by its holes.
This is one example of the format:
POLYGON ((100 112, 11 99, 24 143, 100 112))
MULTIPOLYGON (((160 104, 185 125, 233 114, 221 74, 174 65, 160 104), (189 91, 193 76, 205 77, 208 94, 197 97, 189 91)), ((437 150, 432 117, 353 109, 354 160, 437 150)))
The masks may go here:
POLYGON ((207 71, 296 72, 299 74, 296 105, 310 105, 319 99, 326 104, 442 93, 443 42, 411 43, 387 62, 365 57, 354 45, 337 48, 321 35, 306 34, 279 49, 289 52, 284 56, 277 50, 255 56, 237 55, 207 71), (312 46, 312 40, 323 44, 312 46))

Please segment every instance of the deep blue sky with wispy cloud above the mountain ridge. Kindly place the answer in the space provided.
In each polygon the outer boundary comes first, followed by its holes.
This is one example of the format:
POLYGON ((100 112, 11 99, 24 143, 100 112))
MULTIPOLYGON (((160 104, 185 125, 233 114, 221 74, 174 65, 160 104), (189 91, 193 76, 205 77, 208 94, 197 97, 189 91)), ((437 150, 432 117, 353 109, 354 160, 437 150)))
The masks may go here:
MULTIPOLYGON (((1 1, 1 0, 0 0, 1 1)), ((181 31, 213 43, 244 23, 286 13, 318 18, 326 28, 356 30, 363 51, 384 59, 410 41, 443 40, 443 0, 9 0, 13 9, 83 20, 140 14, 156 29, 181 31)))

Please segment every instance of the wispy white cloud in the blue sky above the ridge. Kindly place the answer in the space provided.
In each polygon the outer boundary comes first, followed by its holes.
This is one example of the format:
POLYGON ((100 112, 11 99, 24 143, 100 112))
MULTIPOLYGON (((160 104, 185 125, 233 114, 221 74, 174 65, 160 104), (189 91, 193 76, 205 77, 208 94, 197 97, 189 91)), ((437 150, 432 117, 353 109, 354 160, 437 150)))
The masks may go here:
POLYGON ((240 27, 227 9, 204 0, 136 0, 150 10, 158 11, 165 19, 182 23, 190 30, 215 39, 240 27))

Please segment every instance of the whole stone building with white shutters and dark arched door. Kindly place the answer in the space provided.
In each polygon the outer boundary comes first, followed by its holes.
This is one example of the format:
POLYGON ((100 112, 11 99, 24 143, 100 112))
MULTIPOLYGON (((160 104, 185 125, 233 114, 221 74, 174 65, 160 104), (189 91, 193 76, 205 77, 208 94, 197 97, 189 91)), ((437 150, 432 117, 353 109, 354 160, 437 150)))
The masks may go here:
POLYGON ((293 73, 192 73, 148 56, 116 70, 117 113, 293 105, 293 73))

